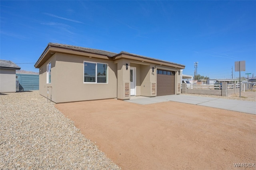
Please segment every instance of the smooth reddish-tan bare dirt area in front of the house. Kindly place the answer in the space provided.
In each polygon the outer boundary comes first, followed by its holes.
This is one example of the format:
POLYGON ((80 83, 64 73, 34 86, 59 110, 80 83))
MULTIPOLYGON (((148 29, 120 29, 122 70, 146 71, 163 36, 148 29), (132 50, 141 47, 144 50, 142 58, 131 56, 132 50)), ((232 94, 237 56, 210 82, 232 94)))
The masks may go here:
POLYGON ((237 169, 234 163, 256 163, 256 115, 116 99, 56 108, 125 170, 237 169))

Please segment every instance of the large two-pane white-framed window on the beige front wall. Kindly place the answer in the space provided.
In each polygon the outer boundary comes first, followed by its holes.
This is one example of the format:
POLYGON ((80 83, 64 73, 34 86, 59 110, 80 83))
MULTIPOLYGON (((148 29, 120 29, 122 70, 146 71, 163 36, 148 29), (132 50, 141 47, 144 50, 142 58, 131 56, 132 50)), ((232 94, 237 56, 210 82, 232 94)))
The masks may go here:
POLYGON ((108 64, 84 61, 84 83, 108 83, 108 64))

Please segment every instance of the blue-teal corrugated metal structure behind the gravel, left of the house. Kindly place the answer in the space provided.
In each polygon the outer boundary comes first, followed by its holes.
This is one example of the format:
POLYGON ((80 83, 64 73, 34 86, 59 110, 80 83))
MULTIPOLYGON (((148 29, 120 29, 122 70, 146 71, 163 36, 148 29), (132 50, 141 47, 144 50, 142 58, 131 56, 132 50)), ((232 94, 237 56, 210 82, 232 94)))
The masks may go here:
POLYGON ((39 75, 16 73, 19 91, 39 90, 39 75))

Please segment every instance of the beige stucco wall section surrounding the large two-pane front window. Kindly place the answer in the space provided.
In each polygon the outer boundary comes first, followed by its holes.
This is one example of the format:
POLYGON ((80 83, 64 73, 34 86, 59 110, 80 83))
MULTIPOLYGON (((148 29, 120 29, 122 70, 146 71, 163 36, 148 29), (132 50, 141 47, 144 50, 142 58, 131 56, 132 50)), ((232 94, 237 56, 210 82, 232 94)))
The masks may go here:
MULTIPOLYGON (((55 103, 116 98, 117 72, 113 61, 62 53, 56 53, 51 59, 51 83, 46 84, 46 65, 50 61, 44 64, 42 81, 44 85, 52 86, 49 96, 55 103), (84 61, 108 64, 108 83, 84 83, 84 61)), ((46 97, 47 88, 40 89, 43 91, 40 94, 46 97)))

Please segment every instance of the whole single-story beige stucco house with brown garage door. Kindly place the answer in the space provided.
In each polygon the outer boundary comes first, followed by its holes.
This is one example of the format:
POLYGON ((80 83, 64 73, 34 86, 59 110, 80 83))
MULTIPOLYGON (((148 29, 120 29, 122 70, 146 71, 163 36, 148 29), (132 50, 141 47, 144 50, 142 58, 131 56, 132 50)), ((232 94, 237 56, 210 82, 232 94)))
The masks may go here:
POLYGON ((40 94, 64 103, 180 94, 185 66, 124 51, 49 43, 35 67, 40 94))

